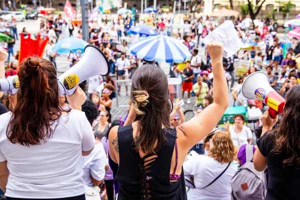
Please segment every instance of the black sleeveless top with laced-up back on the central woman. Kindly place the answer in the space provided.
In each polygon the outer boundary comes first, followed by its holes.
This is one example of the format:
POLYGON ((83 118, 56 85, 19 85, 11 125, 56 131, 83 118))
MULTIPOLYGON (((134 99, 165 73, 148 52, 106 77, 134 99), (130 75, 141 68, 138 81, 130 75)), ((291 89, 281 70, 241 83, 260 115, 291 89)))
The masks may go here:
POLYGON ((119 126, 119 167, 115 177, 119 181, 117 200, 187 199, 183 167, 177 181, 170 182, 169 179, 176 129, 164 129, 165 145, 156 154, 140 158, 139 153, 134 150, 132 125, 119 126))

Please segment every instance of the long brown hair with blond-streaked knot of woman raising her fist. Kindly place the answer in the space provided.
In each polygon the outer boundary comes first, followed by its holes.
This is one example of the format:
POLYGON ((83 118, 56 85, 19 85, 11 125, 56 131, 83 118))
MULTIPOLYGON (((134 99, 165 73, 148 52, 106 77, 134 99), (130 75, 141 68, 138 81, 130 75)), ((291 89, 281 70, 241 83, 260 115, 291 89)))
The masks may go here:
POLYGON ((135 137, 135 150, 155 153, 165 144, 165 129, 170 128, 171 106, 168 101, 167 77, 163 70, 146 64, 138 67, 132 76, 130 100, 135 108, 134 121, 138 123, 138 137, 135 137), (157 146, 153 149, 155 142, 157 146))

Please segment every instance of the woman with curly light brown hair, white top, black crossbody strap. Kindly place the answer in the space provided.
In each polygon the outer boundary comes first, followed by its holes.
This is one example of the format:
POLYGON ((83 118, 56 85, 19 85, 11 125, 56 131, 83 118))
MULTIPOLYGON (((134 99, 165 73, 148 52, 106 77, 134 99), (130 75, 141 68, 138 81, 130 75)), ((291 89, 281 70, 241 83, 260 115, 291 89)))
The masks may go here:
POLYGON ((210 152, 192 156, 183 163, 184 175, 192 175, 195 188, 190 188, 187 199, 230 199, 229 181, 237 170, 235 147, 225 132, 215 133, 210 140, 210 152))

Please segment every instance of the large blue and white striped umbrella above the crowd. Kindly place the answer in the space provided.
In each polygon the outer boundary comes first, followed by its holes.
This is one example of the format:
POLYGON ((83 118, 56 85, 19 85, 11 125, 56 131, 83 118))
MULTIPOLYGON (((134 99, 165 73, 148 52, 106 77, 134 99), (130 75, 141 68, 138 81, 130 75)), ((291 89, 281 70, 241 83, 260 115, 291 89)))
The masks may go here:
POLYGON ((138 58, 149 61, 180 63, 191 58, 191 53, 182 42, 161 34, 133 42, 129 45, 129 50, 138 58))

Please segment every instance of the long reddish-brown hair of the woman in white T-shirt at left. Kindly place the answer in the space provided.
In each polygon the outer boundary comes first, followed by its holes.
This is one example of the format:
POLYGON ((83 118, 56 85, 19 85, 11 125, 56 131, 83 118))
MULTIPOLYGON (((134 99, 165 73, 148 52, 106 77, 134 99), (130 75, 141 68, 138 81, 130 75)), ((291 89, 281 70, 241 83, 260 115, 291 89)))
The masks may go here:
POLYGON ((6 135, 12 143, 37 145, 51 137, 56 126, 50 126, 61 115, 56 70, 46 59, 29 57, 17 75, 17 102, 6 135))

